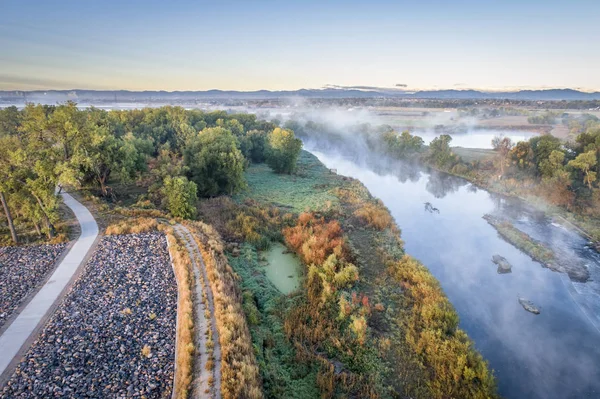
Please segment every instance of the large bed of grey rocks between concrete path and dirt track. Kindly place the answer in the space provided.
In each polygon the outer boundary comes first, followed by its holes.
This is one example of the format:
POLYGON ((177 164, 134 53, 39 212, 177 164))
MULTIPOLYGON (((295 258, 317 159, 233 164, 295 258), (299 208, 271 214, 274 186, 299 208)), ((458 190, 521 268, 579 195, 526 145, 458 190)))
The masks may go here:
POLYGON ((176 313, 164 235, 104 237, 0 396, 168 398, 176 313))

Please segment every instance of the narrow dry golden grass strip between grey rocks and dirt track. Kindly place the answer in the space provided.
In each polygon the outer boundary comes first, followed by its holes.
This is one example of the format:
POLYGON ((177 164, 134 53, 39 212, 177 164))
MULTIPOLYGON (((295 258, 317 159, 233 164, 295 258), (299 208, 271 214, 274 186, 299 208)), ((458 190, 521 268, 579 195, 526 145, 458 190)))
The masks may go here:
POLYGON ((173 268, 179 290, 177 304, 177 348, 175 383, 173 392, 175 398, 185 399, 189 395, 193 379, 194 366, 194 305, 192 301, 191 261, 188 251, 177 240, 169 227, 167 240, 169 252, 173 259, 173 268))

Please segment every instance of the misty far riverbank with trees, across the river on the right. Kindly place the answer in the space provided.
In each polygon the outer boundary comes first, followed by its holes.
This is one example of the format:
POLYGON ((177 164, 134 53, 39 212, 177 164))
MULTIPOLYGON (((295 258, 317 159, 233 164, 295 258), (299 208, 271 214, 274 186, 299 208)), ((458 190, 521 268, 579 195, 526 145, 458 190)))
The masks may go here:
MULTIPOLYGON (((351 134, 311 121, 291 121, 287 126, 299 137, 322 145, 335 143, 348 154, 364 156, 362 151, 367 148, 374 154, 402 160, 404 165, 425 164, 490 191, 521 197, 568 220, 600 247, 600 120, 586 114, 560 116, 569 126, 569 141, 538 135, 513 143, 496 137, 494 150, 453 148, 448 134, 420 147, 418 137, 408 132, 399 135, 389 126, 356 125, 348 128, 351 134)), ((374 158, 369 159, 377 164, 374 158)))

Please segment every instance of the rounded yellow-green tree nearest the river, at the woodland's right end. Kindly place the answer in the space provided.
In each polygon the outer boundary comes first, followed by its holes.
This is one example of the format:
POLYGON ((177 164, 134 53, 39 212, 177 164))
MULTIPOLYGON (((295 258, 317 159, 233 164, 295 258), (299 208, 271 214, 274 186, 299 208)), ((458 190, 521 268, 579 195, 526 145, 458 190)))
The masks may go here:
POLYGON ((302 141, 288 129, 275 128, 267 139, 267 163, 276 173, 291 174, 296 171, 296 162, 302 141))

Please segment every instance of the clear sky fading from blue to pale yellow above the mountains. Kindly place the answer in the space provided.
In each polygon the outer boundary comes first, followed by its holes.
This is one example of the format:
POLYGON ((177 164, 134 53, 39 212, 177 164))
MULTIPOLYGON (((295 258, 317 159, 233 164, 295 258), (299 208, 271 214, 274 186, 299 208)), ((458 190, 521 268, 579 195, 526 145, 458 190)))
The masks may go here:
POLYGON ((0 0, 0 90, 600 91, 600 0, 0 0))

